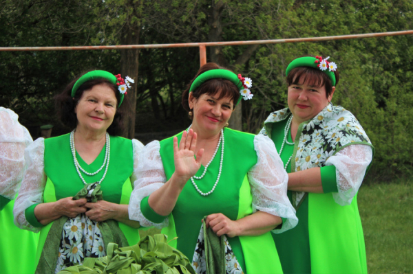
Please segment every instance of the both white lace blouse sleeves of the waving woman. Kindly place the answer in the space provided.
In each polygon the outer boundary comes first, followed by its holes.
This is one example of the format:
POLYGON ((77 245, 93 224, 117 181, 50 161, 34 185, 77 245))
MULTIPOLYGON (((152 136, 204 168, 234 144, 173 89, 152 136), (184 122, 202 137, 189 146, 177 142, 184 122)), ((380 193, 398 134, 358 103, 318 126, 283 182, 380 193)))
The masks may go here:
MULTIPOLYGON (((254 147, 258 161, 248 171, 248 181, 253 195, 253 211, 260 210, 269 214, 286 218, 281 229, 273 230, 281 233, 297 225, 295 209, 291 205, 287 193, 288 174, 277 154, 273 141, 266 136, 256 135, 254 147)), ((167 182, 160 157, 159 141, 152 141, 140 153, 135 181, 135 188, 129 201, 129 218, 138 220, 144 227, 167 227, 168 218, 157 224, 151 222, 142 214, 140 201, 158 190, 167 182)), ((223 170, 224 172, 224 170, 223 170)))

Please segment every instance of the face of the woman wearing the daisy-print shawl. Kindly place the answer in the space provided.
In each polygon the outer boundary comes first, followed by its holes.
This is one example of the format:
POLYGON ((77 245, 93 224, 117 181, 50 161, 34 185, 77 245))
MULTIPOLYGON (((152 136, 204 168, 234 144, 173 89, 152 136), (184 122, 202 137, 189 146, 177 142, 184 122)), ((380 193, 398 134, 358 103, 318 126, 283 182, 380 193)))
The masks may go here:
MULTIPOLYGON (((301 76, 304 78, 304 76, 301 76)), ((290 84, 288 87, 288 108, 296 122, 301 124, 309 119, 313 119, 331 101, 335 87, 327 97, 326 87, 314 87, 301 79, 297 84, 290 84)))

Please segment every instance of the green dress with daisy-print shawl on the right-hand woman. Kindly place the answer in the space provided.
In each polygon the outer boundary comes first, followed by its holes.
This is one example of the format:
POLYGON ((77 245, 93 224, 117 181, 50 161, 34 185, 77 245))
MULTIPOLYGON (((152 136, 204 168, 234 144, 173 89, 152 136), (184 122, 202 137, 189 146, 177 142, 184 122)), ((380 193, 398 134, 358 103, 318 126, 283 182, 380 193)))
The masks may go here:
MULTIPOLYGON (((266 134, 274 141, 277 151, 284 141, 289 115, 290 111, 283 109, 271 113, 265 122, 266 134)), ((264 130, 262 133, 265 134, 264 130)), ((287 141, 292 142, 290 133, 287 141)), ((339 205, 335 165, 325 164, 328 157, 350 144, 371 146, 357 119, 340 106, 331 104, 313 120, 300 124, 294 146, 284 144, 280 155, 284 164, 292 156, 286 170, 296 172, 319 166, 324 190, 324 194, 306 193, 304 196, 288 191, 288 198, 297 209, 299 224, 286 233, 273 234, 284 273, 367 273, 357 195, 348 205, 339 205), (337 126, 335 120, 343 122, 344 126, 337 126), (316 138, 322 144, 317 149, 316 138), (339 139, 345 138, 352 142, 341 144, 339 139)))

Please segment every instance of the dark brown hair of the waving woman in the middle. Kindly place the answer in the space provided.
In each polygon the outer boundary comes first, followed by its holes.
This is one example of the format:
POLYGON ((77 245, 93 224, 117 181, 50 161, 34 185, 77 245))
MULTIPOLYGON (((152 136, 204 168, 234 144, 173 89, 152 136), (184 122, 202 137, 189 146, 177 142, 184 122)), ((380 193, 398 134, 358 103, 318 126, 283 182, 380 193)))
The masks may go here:
MULTIPOLYGON (((187 89, 184 90, 184 93, 182 93, 182 106, 186 111, 191 111, 189 108, 189 89, 191 88, 191 84, 193 81, 200 76, 202 73, 205 71, 209 71, 211 69, 225 69, 224 67, 220 67, 219 65, 215 64, 215 62, 207 62, 207 64, 203 65, 200 67, 198 70, 198 73, 196 73, 195 77, 189 82, 187 89)), ((229 69, 227 69, 229 70, 229 69)), ((237 86, 231 82, 230 80, 222 79, 222 78, 213 78, 211 80, 207 80, 203 82, 200 87, 195 89, 195 91, 192 91, 192 95, 195 99, 198 100, 200 98, 200 95, 207 93, 208 95, 215 95, 218 93, 218 91, 221 91, 220 97, 218 100, 224 97, 229 97, 233 101, 233 108, 235 109, 235 104, 237 104, 238 99, 240 98, 240 90, 237 88, 237 86)))

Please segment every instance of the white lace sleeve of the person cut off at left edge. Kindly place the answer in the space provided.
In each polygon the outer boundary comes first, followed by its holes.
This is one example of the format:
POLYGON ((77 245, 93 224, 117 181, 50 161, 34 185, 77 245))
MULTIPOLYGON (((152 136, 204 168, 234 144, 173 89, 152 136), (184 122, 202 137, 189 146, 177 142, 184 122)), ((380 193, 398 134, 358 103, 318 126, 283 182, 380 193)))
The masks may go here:
POLYGON ((10 109, 0 107, 0 195, 10 200, 23 179, 24 149, 33 141, 18 118, 10 109))

